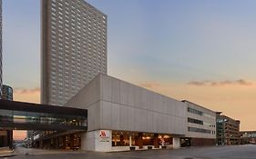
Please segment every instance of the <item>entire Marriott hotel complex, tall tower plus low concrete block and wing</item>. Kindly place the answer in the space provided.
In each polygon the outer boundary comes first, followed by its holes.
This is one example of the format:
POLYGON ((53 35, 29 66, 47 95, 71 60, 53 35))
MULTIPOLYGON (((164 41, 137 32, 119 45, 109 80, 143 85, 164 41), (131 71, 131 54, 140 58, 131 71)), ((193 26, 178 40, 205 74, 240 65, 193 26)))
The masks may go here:
POLYGON ((107 15, 84 0, 42 0, 41 84, 43 104, 87 109, 87 131, 41 132, 34 137, 41 148, 215 144, 214 112, 107 75, 107 15))

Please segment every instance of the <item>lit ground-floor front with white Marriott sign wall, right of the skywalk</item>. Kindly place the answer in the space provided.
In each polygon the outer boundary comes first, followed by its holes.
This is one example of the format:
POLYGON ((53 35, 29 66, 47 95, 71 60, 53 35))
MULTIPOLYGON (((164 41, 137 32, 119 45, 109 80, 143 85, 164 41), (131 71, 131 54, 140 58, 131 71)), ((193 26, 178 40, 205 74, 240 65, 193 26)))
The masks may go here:
POLYGON ((179 148, 179 136, 118 130, 96 130, 81 134, 81 150, 97 152, 179 148))

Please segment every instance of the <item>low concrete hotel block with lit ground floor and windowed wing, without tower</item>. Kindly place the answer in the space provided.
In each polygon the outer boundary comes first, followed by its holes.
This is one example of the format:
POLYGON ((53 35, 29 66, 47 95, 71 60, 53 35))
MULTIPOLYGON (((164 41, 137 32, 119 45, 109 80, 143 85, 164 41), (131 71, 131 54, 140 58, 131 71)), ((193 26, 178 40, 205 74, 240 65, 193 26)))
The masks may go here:
MULTIPOLYGON (((188 110, 199 106, 188 104, 100 74, 65 106, 88 111, 87 133, 81 135, 82 150, 108 152, 128 150, 130 146, 141 149, 163 145, 179 148, 180 139, 185 137, 195 138, 193 145, 215 144, 215 116, 200 116, 210 125, 190 124, 189 116, 193 114, 188 110), (193 131, 192 126, 204 129, 193 131)), ((202 107, 199 110, 214 114, 202 107)))

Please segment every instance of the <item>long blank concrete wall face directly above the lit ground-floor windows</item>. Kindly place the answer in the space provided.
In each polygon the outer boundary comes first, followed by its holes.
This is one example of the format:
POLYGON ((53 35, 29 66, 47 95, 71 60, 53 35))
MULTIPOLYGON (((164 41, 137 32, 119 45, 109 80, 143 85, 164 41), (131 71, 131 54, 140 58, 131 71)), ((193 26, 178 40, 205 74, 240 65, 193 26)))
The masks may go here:
POLYGON ((100 82, 101 129, 186 134, 186 104, 108 75, 100 82))

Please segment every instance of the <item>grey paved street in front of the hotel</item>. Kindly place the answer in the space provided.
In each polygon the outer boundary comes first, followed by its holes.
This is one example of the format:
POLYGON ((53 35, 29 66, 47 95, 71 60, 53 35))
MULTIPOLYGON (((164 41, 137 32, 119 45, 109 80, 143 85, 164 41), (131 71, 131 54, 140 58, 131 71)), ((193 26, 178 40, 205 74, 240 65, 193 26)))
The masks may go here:
POLYGON ((19 149, 21 154, 10 159, 256 159, 256 145, 189 147, 179 150, 148 150, 120 153, 64 152, 19 149), (30 154, 26 154, 30 152, 30 154))

